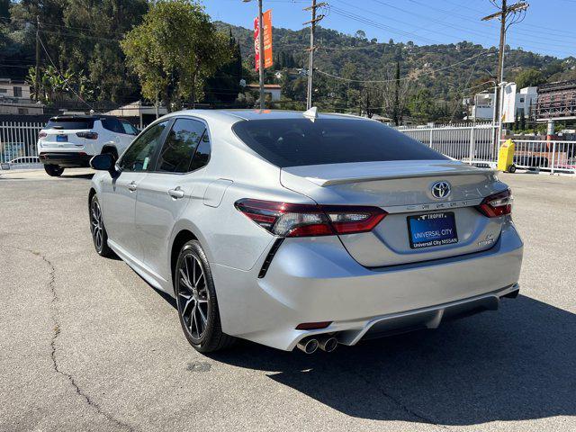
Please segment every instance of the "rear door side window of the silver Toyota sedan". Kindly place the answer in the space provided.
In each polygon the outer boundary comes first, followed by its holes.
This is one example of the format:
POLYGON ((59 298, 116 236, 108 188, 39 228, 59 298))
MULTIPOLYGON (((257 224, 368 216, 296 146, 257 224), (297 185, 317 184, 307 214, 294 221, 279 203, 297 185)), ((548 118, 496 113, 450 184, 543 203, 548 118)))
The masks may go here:
POLYGON ((206 130, 202 121, 178 119, 158 156, 157 171, 187 173, 198 143, 206 130))

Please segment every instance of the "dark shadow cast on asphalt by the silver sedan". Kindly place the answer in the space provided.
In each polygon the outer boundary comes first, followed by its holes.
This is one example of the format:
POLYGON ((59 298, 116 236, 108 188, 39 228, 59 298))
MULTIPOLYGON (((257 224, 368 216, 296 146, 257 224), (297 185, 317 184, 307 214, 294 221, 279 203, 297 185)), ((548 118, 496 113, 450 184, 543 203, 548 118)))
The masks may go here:
POLYGON ((498 312, 332 354, 242 343, 211 358, 362 419, 464 426, 576 415, 576 315, 522 295, 498 312))

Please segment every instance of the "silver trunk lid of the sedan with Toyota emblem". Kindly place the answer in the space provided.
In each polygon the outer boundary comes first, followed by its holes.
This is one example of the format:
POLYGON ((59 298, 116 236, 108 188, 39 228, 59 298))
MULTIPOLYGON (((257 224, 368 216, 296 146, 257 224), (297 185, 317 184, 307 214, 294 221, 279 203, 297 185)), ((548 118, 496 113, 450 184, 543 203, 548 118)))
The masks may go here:
POLYGON ((282 169, 281 183, 319 204, 376 206, 389 213, 370 232, 339 235, 363 266, 478 252, 493 246, 505 220, 488 218, 476 206, 506 185, 492 170, 454 160, 292 166, 282 169), (435 197, 432 187, 437 183, 448 184, 450 193, 435 197), (436 230, 446 230, 446 236, 428 244, 428 234, 436 230))

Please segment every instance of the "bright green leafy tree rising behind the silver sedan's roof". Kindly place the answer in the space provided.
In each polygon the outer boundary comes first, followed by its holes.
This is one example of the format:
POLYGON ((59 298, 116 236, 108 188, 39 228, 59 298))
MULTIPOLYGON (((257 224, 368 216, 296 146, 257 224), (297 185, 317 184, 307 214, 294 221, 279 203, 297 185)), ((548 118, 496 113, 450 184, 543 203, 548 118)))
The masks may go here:
POLYGON ((205 79, 229 61, 229 38, 216 31, 200 4, 159 0, 121 41, 142 94, 168 110, 202 99, 205 79))

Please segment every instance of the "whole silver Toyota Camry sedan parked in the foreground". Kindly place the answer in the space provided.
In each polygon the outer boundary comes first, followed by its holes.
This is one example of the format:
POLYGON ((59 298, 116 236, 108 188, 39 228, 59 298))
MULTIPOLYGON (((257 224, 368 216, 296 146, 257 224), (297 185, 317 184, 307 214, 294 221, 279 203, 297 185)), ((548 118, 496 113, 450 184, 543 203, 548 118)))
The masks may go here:
POLYGON ((174 296, 201 352, 332 351, 518 295, 508 186, 377 121, 175 112, 91 165, 97 253, 174 296))

